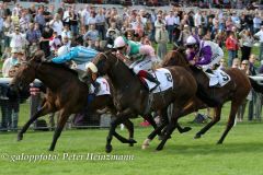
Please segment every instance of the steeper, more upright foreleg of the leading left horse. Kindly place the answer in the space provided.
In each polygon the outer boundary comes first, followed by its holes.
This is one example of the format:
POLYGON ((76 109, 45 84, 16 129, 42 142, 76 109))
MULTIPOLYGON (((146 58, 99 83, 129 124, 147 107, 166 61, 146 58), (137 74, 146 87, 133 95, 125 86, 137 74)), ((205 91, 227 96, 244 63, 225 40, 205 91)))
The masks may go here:
POLYGON ((69 113, 65 113, 65 110, 62 110, 60 113, 60 116, 59 116, 59 121, 57 124, 57 128, 54 132, 54 136, 53 136, 53 142, 52 142, 52 145, 49 148, 49 151, 54 151, 55 147, 56 147, 56 143, 57 143, 57 140, 59 138, 59 136, 61 135, 61 131, 64 129, 64 126, 65 124, 67 122, 68 118, 69 118, 70 114, 69 113))

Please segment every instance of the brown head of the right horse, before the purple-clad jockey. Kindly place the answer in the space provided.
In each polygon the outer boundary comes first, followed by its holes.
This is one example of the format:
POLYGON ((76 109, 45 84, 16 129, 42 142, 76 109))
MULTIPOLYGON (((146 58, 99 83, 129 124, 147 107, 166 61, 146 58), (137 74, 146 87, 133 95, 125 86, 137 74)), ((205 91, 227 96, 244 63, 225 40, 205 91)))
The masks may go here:
POLYGON ((169 67, 169 66, 180 66, 187 68, 188 61, 186 60, 185 56, 185 48, 183 47, 175 47, 173 50, 169 51, 162 61, 162 67, 169 67))

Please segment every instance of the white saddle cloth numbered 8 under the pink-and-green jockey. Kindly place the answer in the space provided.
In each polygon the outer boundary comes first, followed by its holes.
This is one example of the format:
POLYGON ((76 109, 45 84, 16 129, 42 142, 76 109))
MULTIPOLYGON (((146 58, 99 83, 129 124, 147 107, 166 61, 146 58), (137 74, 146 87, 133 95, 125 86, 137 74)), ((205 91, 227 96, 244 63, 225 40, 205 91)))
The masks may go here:
MULTIPOLYGON (((153 78, 157 78, 157 80, 160 82, 160 85, 158 85, 152 93, 159 93, 163 92, 170 88, 173 88, 173 79, 172 74, 168 69, 160 68, 157 69, 155 72, 150 72, 153 78)), ((156 83, 150 82, 149 80, 145 79, 147 82, 147 85, 149 90, 153 89, 156 86, 156 83)))

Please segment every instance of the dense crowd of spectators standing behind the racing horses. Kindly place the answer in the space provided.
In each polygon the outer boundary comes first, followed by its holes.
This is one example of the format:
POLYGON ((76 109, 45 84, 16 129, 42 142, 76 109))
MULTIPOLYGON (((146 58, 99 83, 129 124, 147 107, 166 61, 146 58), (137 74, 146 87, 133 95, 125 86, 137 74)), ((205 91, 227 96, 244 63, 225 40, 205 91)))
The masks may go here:
MULTIPOLYGON (((36 7, 34 3, 30 8, 20 3, 9 8, 8 3, 0 2, 3 77, 10 77, 10 70, 26 61, 37 49, 43 49, 47 58, 54 57, 64 45, 83 45, 103 50, 113 47, 114 39, 119 35, 157 45, 160 58, 171 45, 183 46, 190 35, 198 35, 201 39, 213 40, 227 50, 228 59, 224 61, 228 63, 224 67, 232 67, 233 60, 248 61, 249 74, 252 75, 258 73, 255 60, 250 59, 253 47, 260 50, 255 58, 263 60, 263 12, 260 10, 186 11, 179 7, 171 7, 169 11, 119 10, 91 4, 77 9, 76 4, 64 2, 58 9, 54 4, 36 7)), ((253 119, 253 104, 250 106, 249 119, 253 119)))

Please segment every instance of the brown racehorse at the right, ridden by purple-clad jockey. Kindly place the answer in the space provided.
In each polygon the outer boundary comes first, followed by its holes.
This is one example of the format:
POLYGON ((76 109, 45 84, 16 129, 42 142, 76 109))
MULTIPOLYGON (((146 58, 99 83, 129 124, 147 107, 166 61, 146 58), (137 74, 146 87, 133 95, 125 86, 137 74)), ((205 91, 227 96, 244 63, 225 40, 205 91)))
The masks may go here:
MULTIPOLYGON (((248 78, 242 70, 230 68, 226 69, 226 73, 229 74, 231 80, 224 85, 222 88, 209 88, 209 79, 208 77, 198 68, 190 66, 188 61, 186 60, 185 55, 183 54, 183 48, 178 48, 175 50, 172 50, 167 54, 167 56, 163 58, 162 66, 180 66, 182 68, 185 68, 188 72, 193 74, 193 77, 197 81, 197 86, 199 88, 198 83, 205 84, 205 90, 202 90, 202 92, 197 91, 197 97, 202 100, 204 103, 206 103, 209 107, 215 107, 215 116, 210 122, 208 122, 203 129, 201 129, 196 135, 195 139, 198 139, 204 135, 207 130, 209 130, 216 122, 220 120, 221 116, 221 108, 224 103, 230 101, 231 102, 231 108, 230 108, 230 115, 228 119, 227 127, 221 136, 221 138, 218 140, 218 144, 221 144, 229 132, 229 130, 232 128, 235 124, 235 118, 237 110, 239 106, 243 103, 245 97, 248 96, 251 85, 256 91, 262 93, 263 86, 259 85, 255 81, 253 81, 251 78, 248 78), (204 94, 204 92, 206 92, 204 94), (214 95, 214 98, 216 98, 219 103, 211 102, 210 98, 206 95, 214 95), (217 105, 215 105, 217 104, 217 105)), ((191 105, 184 108, 183 115, 190 114, 197 108, 204 108, 204 105, 202 103, 196 104, 197 100, 194 101, 191 105)))

